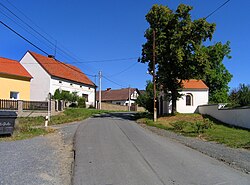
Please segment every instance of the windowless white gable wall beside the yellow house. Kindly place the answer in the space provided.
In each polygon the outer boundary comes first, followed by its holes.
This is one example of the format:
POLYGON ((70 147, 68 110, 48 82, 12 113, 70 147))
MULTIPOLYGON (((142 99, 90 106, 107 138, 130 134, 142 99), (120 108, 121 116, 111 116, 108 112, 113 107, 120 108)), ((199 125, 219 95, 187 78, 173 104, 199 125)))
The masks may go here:
POLYGON ((33 77, 30 81, 30 100, 45 101, 50 90, 50 75, 28 52, 21 59, 20 63, 33 77))

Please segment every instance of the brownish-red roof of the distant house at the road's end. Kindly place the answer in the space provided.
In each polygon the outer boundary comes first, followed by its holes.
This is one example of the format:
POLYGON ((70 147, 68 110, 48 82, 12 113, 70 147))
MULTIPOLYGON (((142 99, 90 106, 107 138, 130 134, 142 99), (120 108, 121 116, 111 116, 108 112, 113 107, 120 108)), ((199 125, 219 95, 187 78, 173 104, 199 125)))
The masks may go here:
MULTIPOLYGON (((130 95, 136 91, 135 88, 130 88, 130 95)), ((128 100, 129 88, 125 89, 116 89, 116 90, 106 90, 102 91, 102 101, 121 101, 128 100)), ((99 100, 99 92, 96 92, 96 100, 99 100)))

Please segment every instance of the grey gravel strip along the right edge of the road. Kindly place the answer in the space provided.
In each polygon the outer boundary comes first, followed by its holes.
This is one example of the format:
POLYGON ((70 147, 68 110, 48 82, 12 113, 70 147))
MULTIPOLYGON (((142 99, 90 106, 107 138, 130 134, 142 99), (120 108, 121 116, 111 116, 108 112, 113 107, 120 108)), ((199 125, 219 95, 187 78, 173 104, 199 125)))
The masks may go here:
POLYGON ((229 148, 225 145, 215 142, 208 142, 198 138, 185 137, 174 132, 151 127, 145 124, 140 125, 158 135, 171 138, 210 157, 223 161, 235 169, 250 174, 249 150, 229 148))

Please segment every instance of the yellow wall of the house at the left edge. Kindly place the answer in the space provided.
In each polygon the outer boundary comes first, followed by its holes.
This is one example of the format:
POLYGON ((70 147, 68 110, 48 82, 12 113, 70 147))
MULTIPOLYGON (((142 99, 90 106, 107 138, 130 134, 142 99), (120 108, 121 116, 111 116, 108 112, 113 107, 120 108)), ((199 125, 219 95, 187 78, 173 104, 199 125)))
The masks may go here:
POLYGON ((9 100, 10 92, 17 92, 18 100, 30 100, 30 80, 10 75, 1 75, 0 84, 0 99, 9 100))

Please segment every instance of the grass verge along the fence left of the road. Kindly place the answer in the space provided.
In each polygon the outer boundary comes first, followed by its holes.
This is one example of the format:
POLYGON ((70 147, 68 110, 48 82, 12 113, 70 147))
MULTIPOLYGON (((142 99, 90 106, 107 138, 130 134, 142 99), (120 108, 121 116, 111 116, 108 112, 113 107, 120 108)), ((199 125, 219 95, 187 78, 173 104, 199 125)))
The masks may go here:
MULTIPOLYGON (((57 125, 69 123, 73 121, 80 121, 91 117, 94 114, 108 113, 110 111, 96 110, 96 109, 81 109, 69 108, 63 113, 51 116, 49 125, 57 125)), ((44 128, 44 117, 21 117, 17 118, 14 133, 12 136, 0 136, 1 141, 15 141, 32 138, 35 136, 45 135, 54 132, 52 128, 44 128)))

